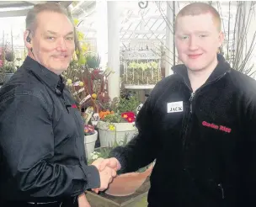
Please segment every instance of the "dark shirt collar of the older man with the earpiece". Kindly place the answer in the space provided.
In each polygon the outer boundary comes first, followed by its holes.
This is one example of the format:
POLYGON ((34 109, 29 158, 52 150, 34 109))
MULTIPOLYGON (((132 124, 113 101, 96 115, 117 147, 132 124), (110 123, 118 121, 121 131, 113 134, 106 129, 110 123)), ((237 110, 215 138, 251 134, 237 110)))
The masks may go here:
POLYGON ((45 66, 42 66, 38 61, 35 61, 31 57, 27 56, 24 63, 24 69, 29 70, 35 74, 40 81, 45 82, 45 84, 55 90, 57 85, 63 82, 61 76, 56 75, 56 73, 51 72, 45 66))

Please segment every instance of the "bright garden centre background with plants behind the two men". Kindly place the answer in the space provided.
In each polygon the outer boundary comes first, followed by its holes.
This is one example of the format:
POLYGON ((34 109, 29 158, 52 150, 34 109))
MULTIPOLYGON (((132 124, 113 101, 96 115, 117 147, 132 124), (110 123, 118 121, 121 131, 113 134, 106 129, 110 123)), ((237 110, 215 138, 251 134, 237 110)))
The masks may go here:
MULTIPOLYGON (((77 31, 78 49, 62 76, 81 109, 86 154, 94 159, 99 157, 96 150, 100 147, 132 139, 142 104, 157 82, 173 74, 172 66, 181 63, 173 24, 180 9, 192 2, 56 2, 67 8, 77 31), (119 99, 121 102, 116 103, 119 99)), ((37 3, 45 2, 0 2, 0 87, 28 55, 25 17, 37 3)), ((207 3, 221 14, 225 40, 219 52, 232 68, 255 79, 256 2, 207 3)), ((92 206, 147 206, 150 173, 147 169, 141 173, 145 176, 129 193, 89 193, 92 206)))

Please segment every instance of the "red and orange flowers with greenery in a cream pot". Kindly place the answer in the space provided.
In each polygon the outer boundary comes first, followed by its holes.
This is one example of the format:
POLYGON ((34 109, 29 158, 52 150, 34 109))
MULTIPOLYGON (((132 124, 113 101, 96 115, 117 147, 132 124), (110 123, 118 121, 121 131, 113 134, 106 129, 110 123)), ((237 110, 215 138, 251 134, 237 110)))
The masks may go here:
POLYGON ((125 135, 130 141, 136 134, 136 97, 114 98, 109 107, 99 112, 100 146, 113 146, 114 142, 124 141, 125 135))

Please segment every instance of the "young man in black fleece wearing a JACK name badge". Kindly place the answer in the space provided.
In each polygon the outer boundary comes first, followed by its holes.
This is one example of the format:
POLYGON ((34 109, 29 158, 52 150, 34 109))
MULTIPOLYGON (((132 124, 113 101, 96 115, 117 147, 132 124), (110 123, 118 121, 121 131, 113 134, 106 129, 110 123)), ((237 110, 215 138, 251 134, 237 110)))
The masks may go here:
POLYGON ((223 33, 211 5, 184 7, 175 27, 184 65, 157 83, 137 116, 138 135, 101 167, 128 173, 156 160, 150 207, 254 206, 256 82, 216 54, 223 33))

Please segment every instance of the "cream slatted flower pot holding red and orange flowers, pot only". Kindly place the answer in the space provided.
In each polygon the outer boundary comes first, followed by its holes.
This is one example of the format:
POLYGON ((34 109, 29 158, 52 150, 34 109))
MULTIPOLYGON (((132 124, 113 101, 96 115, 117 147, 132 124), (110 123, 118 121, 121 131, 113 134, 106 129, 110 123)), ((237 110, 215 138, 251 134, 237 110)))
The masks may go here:
POLYGON ((97 126, 99 129, 100 146, 113 146, 115 141, 120 143, 125 140, 125 135, 127 136, 127 141, 131 141, 136 134, 136 126, 134 122, 108 123, 99 121, 97 126), (109 125, 114 125, 115 130, 110 130, 109 125))

